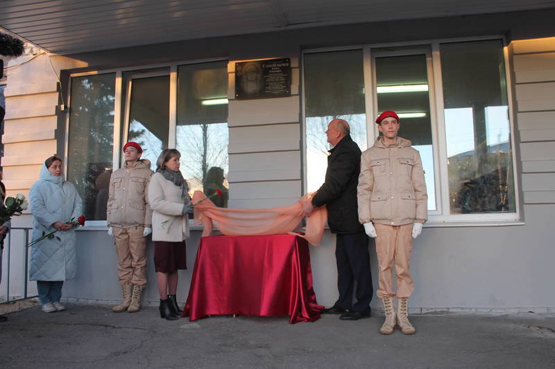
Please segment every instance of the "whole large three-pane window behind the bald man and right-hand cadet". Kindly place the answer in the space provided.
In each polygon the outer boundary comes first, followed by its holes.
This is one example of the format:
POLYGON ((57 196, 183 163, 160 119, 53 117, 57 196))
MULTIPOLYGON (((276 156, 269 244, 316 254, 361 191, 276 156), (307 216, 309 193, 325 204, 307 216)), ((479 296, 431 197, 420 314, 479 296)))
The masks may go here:
POLYGON ((422 157, 429 220, 518 219, 502 40, 307 52, 303 82, 307 191, 323 182, 329 120, 355 122, 364 151, 375 116, 395 110, 422 157))

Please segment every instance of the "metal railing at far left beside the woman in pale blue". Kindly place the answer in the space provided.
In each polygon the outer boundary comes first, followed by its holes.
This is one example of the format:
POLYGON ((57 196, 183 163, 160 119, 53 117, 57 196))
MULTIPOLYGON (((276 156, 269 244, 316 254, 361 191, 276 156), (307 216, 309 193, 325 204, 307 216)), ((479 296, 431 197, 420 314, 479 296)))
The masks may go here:
MULTIPOLYGON (((2 262, 4 263, 4 265, 7 264, 6 267, 6 271, 7 273, 5 274, 6 276, 6 280, 2 280, 2 284, 4 282, 6 282, 6 300, 0 300, 0 304, 6 304, 6 303, 12 303, 15 301, 19 301, 19 300, 25 300, 27 298, 33 298, 33 297, 37 297, 38 295, 32 295, 32 296, 28 296, 28 264, 29 264, 29 251, 27 250, 26 246, 29 243, 29 231, 31 231, 31 227, 12 227, 10 228, 10 233, 8 233, 8 236, 6 237, 6 240, 4 242, 4 250, 3 250, 3 255, 2 255, 2 262), (17 296, 16 298, 10 298, 10 287, 12 287, 11 282, 12 282, 12 278, 11 278, 11 272, 12 272, 12 238, 14 237, 14 232, 17 231, 22 231, 23 232, 23 242, 21 242, 21 244, 17 244, 17 247, 20 248, 20 251, 22 252, 22 256, 23 256, 23 265, 22 265, 22 279, 21 279, 21 284, 22 284, 22 294, 21 296, 17 296), (7 260, 7 262, 4 262, 4 260, 7 260)), ((19 232, 18 232, 19 233, 19 232)), ((19 243, 19 242, 18 242, 19 243)), ((3 268, 2 268, 3 269, 3 268)), ((3 273, 3 271, 2 271, 3 273)), ((17 280, 16 282, 19 282, 19 280, 17 280)), ((1 295, 1 294, 0 294, 1 295)))

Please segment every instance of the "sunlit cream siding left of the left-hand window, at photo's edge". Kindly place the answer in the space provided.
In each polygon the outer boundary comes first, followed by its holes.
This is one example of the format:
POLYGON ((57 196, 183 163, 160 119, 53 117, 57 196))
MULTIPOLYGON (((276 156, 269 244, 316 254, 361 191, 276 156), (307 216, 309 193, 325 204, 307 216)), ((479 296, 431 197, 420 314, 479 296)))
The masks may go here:
POLYGON ((40 165, 57 152, 55 134, 60 102, 59 70, 84 66, 83 62, 46 54, 10 61, 4 123, 4 184, 8 195, 28 190, 38 179, 40 165), (52 64, 51 64, 52 63, 52 64), (54 69, 56 68, 56 72, 54 69))

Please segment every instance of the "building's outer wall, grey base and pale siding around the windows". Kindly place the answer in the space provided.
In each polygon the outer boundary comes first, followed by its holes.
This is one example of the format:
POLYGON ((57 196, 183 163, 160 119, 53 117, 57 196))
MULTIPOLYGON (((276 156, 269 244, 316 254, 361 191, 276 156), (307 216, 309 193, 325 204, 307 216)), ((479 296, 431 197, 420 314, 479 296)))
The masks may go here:
MULTIPOLYGON (((549 220, 555 210, 555 11, 508 15, 413 20, 393 27, 368 24, 296 30, 221 39, 195 40, 148 48, 53 56, 54 69, 101 69, 148 65, 171 60, 229 57, 230 77, 230 206, 267 207, 295 201, 302 193, 302 125, 300 120, 300 51, 302 48, 371 42, 403 42, 479 35, 506 35, 513 73, 513 100, 524 224, 509 226, 427 226, 416 239, 412 271, 416 291, 413 312, 537 312, 553 311, 552 260, 555 249, 549 220), (479 25, 469 27, 469 24, 479 25), (384 31, 384 30, 387 30, 384 31), (541 37, 541 38, 540 38, 541 37), (148 49, 148 52, 147 52, 148 49), (164 54, 165 51, 165 54, 164 54), (292 96, 234 100, 234 63, 266 57, 291 57, 292 96), (90 66, 90 67, 89 67, 90 66)), ((10 74, 6 91, 8 114, 5 178, 8 193, 26 192, 46 156, 63 141, 65 115, 60 84, 46 55, 10 74), (56 133, 58 129, 58 133, 56 133), (60 132, 61 131, 61 132, 60 132)), ((63 81, 63 78, 62 78, 63 81)), ((29 219, 29 218, 27 218, 29 219)), ((21 222, 24 219, 20 219, 21 222)), ((28 220, 25 221, 28 224, 28 220)), ((94 228, 94 227, 93 227, 94 228)), ((79 271, 67 282, 70 299, 110 302, 120 296, 112 239, 100 227, 78 232, 79 271)), ((180 299, 188 291, 199 232, 188 245, 189 270, 180 272, 180 299)), ((372 271, 377 285, 375 248, 370 242, 372 271)), ((149 246, 149 261, 152 261, 149 246)), ((334 235, 311 247, 314 288, 318 303, 331 305, 337 296, 334 235)), ((157 300, 152 268, 147 301, 157 300)), ((377 307, 377 299, 373 301, 377 307)))

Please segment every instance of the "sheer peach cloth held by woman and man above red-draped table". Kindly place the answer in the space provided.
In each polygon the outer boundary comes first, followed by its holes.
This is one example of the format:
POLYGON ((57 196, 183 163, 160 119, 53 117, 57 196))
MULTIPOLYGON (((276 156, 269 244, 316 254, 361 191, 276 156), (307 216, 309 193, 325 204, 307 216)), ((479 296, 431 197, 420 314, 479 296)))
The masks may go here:
POLYGON ((289 233, 304 238, 314 246, 322 241, 324 226, 327 219, 325 206, 320 206, 307 218, 305 234, 293 233, 302 218, 302 203, 310 202, 314 193, 309 193, 295 204, 266 209, 230 209, 218 208, 206 199, 201 191, 193 195, 194 224, 204 224, 203 237, 209 236, 216 224, 224 235, 279 235, 289 233), (205 199, 203 201, 203 199, 205 199), (198 201, 203 201, 198 204, 198 201))

